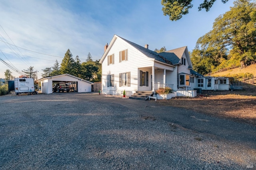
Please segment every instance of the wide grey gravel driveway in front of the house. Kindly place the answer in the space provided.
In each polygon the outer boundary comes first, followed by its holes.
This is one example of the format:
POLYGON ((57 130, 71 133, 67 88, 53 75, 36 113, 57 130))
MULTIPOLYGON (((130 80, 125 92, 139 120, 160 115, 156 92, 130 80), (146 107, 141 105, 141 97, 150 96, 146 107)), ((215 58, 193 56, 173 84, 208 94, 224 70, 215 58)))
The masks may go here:
POLYGON ((256 127, 98 93, 0 96, 0 169, 256 170, 256 127))

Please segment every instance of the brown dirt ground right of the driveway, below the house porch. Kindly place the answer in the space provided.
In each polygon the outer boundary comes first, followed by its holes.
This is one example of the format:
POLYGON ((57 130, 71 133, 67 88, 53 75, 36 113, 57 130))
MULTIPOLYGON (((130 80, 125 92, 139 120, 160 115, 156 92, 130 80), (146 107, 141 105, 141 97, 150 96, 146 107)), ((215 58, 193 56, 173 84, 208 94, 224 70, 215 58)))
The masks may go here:
POLYGON ((244 90, 204 91, 195 98, 179 97, 157 102, 256 126, 256 85, 242 86, 244 90))

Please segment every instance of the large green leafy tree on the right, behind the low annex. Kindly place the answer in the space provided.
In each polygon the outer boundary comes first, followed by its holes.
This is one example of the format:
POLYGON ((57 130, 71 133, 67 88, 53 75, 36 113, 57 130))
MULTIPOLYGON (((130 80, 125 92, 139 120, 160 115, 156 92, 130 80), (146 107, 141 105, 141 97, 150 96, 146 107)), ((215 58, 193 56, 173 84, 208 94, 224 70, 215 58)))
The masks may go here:
POLYGON ((230 11, 216 18, 213 29, 198 39, 192 51, 194 70, 207 74, 256 61, 255 6, 250 0, 236 0, 230 11))

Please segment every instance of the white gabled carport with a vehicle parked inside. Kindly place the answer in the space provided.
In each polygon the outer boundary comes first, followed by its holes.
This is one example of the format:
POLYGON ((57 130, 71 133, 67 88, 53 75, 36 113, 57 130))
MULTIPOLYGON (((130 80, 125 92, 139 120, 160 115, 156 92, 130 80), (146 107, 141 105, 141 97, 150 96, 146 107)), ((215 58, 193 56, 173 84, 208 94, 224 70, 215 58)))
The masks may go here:
POLYGON ((83 80, 70 74, 60 74, 57 76, 44 77, 36 81, 39 93, 52 94, 52 84, 55 82, 67 83, 71 87, 71 92, 92 92, 92 82, 83 80))

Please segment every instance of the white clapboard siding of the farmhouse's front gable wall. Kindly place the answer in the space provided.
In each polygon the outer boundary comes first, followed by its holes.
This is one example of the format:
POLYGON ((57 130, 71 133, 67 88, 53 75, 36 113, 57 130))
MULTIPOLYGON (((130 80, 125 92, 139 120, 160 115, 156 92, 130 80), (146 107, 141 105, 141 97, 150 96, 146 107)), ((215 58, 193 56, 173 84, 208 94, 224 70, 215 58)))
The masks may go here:
MULTIPOLYGON (((153 61, 144 56, 140 51, 126 43, 124 40, 117 38, 105 59, 102 61, 102 89, 109 88, 110 90, 126 90, 137 91, 139 83, 139 70, 142 67, 152 67, 153 61), (128 61, 119 63, 119 51, 128 49, 128 61), (114 64, 108 65, 108 55, 114 54, 114 64), (130 72, 130 87, 119 87, 119 73, 130 72), (114 87, 107 87, 107 76, 114 74, 114 87)), ((150 71, 150 73, 152 70, 150 71)), ((149 75, 150 75, 149 73, 149 75)), ((150 82, 150 80, 149 80, 150 82)))

